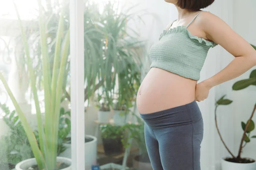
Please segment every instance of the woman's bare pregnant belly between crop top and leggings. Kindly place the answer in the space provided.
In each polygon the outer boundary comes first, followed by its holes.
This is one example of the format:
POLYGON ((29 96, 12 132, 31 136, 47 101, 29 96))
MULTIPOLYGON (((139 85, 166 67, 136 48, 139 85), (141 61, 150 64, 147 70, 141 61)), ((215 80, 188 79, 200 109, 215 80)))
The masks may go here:
POLYGON ((190 103, 195 100, 196 83, 196 80, 153 67, 140 85, 138 111, 153 113, 190 103))

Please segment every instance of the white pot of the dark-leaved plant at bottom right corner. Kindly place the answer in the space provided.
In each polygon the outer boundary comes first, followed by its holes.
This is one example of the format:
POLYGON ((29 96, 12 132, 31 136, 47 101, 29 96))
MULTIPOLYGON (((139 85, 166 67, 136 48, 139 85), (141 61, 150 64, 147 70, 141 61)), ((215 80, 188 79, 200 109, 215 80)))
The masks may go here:
POLYGON ((221 159, 221 170, 256 170, 256 162, 253 163, 234 163, 221 159))

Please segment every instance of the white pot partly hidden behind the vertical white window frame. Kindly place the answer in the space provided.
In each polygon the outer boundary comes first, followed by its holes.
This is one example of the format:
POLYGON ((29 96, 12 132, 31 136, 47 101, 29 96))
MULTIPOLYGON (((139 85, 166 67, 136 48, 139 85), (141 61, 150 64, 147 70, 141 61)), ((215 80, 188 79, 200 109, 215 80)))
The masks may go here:
MULTIPOLYGON (((91 165, 97 163, 97 138, 95 136, 90 135, 86 136, 93 139, 90 142, 84 143, 84 163, 86 165, 85 170, 90 170, 91 165)), ((64 146, 67 147, 67 149, 64 152, 62 152, 60 156, 71 159, 71 144, 64 144, 64 146)))

